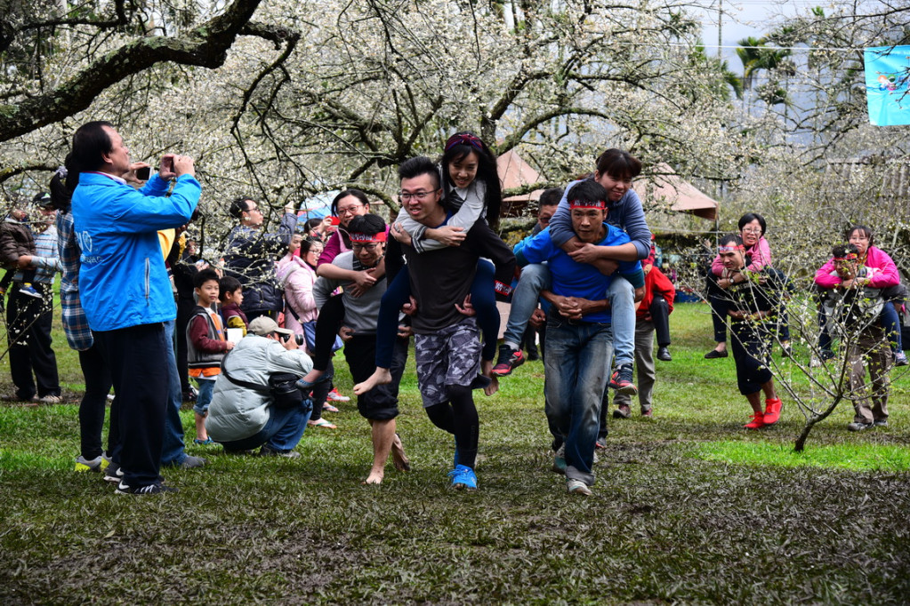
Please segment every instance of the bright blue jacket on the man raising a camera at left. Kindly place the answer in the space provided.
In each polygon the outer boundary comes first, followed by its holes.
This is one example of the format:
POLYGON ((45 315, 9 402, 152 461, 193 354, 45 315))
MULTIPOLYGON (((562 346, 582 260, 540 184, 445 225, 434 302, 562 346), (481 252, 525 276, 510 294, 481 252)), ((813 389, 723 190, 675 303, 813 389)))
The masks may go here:
POLYGON ((187 224, 202 187, 188 174, 169 196, 167 186, 157 174, 140 190, 106 174, 79 174, 73 193, 79 293, 93 331, 177 317, 157 232, 187 224))

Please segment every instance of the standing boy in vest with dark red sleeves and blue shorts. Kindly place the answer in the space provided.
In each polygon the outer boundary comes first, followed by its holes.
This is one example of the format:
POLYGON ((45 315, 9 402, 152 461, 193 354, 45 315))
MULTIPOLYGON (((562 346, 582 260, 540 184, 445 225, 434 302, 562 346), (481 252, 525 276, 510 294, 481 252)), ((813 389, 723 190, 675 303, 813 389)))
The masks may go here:
POLYGON ((196 412, 196 440, 193 442, 211 444, 214 442, 206 433, 208 404, 212 402, 215 379, 221 373, 221 358, 234 349, 234 343, 225 339, 221 319, 212 309, 220 291, 218 274, 204 269, 196 274, 194 284, 199 304, 193 309, 187 326, 189 376, 195 378, 199 386, 193 406, 193 412, 196 412))

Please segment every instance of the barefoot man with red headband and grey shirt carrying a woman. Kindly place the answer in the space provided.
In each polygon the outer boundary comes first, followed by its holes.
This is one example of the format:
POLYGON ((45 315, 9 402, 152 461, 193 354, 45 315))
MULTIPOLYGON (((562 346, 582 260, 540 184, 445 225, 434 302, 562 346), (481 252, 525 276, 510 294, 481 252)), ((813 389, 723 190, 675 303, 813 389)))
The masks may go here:
MULTIPOLYGON (((362 272, 379 264, 385 254, 386 223, 376 214, 363 214, 354 217, 348 224, 351 250, 340 253, 332 264, 349 272, 362 272)), ((313 298, 321 309, 331 293, 347 283, 342 280, 331 280, 319 277, 313 284, 313 298)), ((372 288, 360 296, 354 296, 346 288, 344 297, 344 321, 341 329, 342 338, 347 342, 344 357, 350 368, 354 382, 365 381, 376 370, 376 325, 379 321, 379 303, 386 292, 385 275, 379 278, 372 288)), ((317 328, 319 330, 319 326, 317 328)), ((392 462, 399 472, 410 470, 410 462, 405 456, 401 440, 395 432, 395 417, 398 416, 398 389, 404 364, 408 359, 408 334, 410 329, 399 326, 399 338, 396 340, 389 371, 392 381, 377 385, 369 392, 357 396, 357 410, 372 428, 373 468, 364 483, 379 484, 385 476, 386 462, 389 453, 392 462)))

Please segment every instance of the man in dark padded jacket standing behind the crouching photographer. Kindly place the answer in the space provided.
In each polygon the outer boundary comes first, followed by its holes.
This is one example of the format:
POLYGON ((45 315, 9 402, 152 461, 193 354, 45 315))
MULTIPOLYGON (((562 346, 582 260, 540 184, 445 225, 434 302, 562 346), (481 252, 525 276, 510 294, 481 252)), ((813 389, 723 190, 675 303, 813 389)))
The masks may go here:
POLYGON ((227 237, 225 274, 243 285, 240 308, 250 321, 260 315, 275 320, 284 308, 284 299, 275 282, 275 260, 288 252, 291 235, 297 227, 294 207, 285 206, 277 233, 259 233, 263 214, 252 198, 237 198, 228 212, 240 224, 227 237))

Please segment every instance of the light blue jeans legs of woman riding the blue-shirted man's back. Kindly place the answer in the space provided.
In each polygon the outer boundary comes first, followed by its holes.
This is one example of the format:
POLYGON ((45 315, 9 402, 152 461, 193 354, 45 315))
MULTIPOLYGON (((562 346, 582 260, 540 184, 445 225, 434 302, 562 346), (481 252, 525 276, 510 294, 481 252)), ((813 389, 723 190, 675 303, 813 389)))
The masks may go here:
MULTIPOLYGON (((512 293, 509 323, 502 335, 505 343, 521 343, 541 291, 550 287, 551 275, 546 263, 525 265, 521 269, 521 278, 512 293)), ((606 298, 610 301, 616 365, 631 364, 635 357, 635 289, 628 280, 614 274, 606 298)), ((606 365, 610 366, 609 360, 606 365)))

